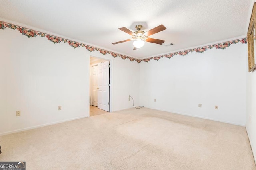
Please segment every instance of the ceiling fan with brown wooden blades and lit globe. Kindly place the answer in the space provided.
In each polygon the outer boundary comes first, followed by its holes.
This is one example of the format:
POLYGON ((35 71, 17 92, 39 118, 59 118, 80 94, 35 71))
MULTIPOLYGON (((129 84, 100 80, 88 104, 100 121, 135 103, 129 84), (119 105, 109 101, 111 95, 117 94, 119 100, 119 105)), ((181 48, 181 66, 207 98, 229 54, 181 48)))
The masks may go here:
POLYGON ((153 29, 150 29, 147 32, 141 31, 142 25, 136 25, 135 28, 137 30, 135 32, 130 31, 126 27, 118 28, 121 31, 124 31, 124 32, 128 33, 129 35, 132 35, 132 38, 131 39, 126 39, 126 40, 123 40, 123 41, 118 41, 118 42, 112 43, 112 44, 119 44, 119 43, 124 43, 126 41, 136 40, 136 41, 133 42, 133 45, 134 45, 133 50, 136 50, 136 49, 139 49, 140 47, 143 47, 143 45, 145 44, 145 41, 149 42, 149 43, 156 43, 156 44, 164 43, 164 40, 154 39, 154 38, 148 37, 150 35, 153 35, 155 33, 160 32, 160 31, 164 31, 166 29, 166 27, 164 27, 164 25, 159 25, 159 26, 157 26, 153 29))

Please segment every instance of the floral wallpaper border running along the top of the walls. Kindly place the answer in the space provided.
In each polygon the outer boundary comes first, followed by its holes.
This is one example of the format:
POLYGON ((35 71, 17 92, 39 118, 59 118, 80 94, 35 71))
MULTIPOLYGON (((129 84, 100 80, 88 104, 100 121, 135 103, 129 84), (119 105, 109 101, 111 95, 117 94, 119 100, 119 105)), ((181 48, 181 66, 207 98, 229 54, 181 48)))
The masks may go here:
POLYGON ((42 32, 39 32, 39 31, 32 30, 32 29, 27 29, 27 28, 24 28, 24 27, 19 27, 17 25, 13 25, 11 23, 6 23, 6 22, 3 22, 3 21, 0 21, 0 29, 5 29, 5 28, 10 28, 10 29, 18 30, 18 31, 20 31, 20 33, 22 33, 22 35, 25 35, 28 38, 30 38, 30 37, 37 37, 37 36, 46 37, 49 41, 51 41, 54 44, 60 43, 60 42, 68 43, 68 45, 70 45, 73 48, 83 47, 83 48, 86 48, 90 52, 92 52, 92 51, 99 51, 102 55, 110 54, 113 57, 121 57, 124 60, 125 59, 129 59, 130 61, 137 61, 138 63, 140 63, 142 61, 149 62, 150 60, 153 60, 153 59, 154 60, 159 60, 159 59, 164 58, 164 57, 170 59, 174 55, 185 56, 188 53, 191 53, 193 51, 196 51, 196 53, 203 53, 204 51, 206 51, 208 49, 212 49, 212 48, 226 49, 227 47, 229 47, 232 44, 236 44, 236 43, 246 44, 247 43, 247 39, 246 38, 236 39, 236 40, 233 40, 233 41, 228 41, 228 42, 224 42, 224 43, 218 43, 218 44, 214 44, 214 45, 207 45, 207 46, 204 46, 204 47, 199 47, 199 48, 195 48, 195 49, 179 51, 179 52, 170 53, 170 54, 159 55, 159 56, 156 56, 156 57, 150 57, 150 58, 146 58, 146 59, 136 59, 136 58, 129 57, 129 56, 126 56, 126 55, 114 53, 112 51, 107 51, 107 50, 100 49, 100 48, 97 48, 97 47, 92 47, 90 45, 86 45, 86 44, 83 44, 83 43, 78 43, 76 41, 71 41, 71 40, 68 40, 68 39, 61 38, 61 37, 56 37, 54 35, 49 35, 49 34, 46 34, 46 33, 42 33, 42 32))

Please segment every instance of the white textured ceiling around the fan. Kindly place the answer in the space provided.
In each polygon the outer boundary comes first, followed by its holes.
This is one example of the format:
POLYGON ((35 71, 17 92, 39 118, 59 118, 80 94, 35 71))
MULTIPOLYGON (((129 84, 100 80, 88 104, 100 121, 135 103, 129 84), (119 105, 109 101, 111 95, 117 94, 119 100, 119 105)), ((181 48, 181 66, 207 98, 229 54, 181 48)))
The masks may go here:
MULTIPOLYGON (((14 21, 130 57, 145 58, 246 37, 255 0, 0 0, 0 19, 14 21), (135 25, 167 29, 133 50, 135 25), (166 47, 167 44, 174 45, 166 47)), ((39 31, 40 31, 39 30, 39 31)))

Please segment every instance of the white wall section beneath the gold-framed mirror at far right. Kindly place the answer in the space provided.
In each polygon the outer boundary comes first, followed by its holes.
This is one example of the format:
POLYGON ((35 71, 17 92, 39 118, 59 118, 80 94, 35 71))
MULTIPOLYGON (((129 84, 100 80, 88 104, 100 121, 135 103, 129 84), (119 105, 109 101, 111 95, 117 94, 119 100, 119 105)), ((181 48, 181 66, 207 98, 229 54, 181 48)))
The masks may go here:
POLYGON ((246 104, 246 130, 256 162, 256 70, 247 74, 246 104))

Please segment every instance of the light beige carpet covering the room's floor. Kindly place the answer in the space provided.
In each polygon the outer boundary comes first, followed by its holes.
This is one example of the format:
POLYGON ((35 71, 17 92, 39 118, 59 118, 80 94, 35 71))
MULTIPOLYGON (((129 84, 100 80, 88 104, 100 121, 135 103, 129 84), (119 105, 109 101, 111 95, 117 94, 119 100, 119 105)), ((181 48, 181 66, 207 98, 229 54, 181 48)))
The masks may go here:
POLYGON ((1 137, 0 161, 28 170, 255 170, 245 127, 127 109, 1 137))

